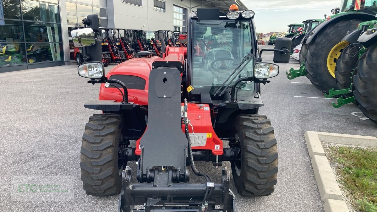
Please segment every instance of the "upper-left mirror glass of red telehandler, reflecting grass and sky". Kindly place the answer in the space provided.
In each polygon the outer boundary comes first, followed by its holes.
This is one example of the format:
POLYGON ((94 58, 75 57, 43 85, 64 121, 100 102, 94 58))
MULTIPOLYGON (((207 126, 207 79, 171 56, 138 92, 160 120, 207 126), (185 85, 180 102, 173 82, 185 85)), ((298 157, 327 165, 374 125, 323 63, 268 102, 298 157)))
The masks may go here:
POLYGON ((95 45, 94 32, 92 28, 74 29, 71 37, 75 47, 86 47, 95 45))

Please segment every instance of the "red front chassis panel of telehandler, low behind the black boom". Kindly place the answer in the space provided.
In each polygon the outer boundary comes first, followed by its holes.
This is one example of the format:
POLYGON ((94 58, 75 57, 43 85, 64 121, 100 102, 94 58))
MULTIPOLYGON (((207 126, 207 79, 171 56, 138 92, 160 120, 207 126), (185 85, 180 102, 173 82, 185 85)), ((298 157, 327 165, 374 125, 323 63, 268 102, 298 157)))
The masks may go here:
MULTIPOLYGON (((183 106, 183 103, 182 103, 183 106)), ((208 149, 212 151, 214 155, 222 155, 224 151, 222 150, 222 140, 217 137, 215 131, 212 127, 210 107, 208 104, 188 104, 187 117, 193 127, 189 125, 190 135, 195 134, 207 134, 206 142, 204 146, 193 146, 192 149, 208 149), (192 134, 192 129, 194 129, 194 134, 192 134)), ((184 124, 182 124, 182 131, 184 132, 184 124)), ((192 145, 193 145, 192 141, 192 145)), ((141 154, 140 150, 140 139, 136 141, 136 155, 141 154)))

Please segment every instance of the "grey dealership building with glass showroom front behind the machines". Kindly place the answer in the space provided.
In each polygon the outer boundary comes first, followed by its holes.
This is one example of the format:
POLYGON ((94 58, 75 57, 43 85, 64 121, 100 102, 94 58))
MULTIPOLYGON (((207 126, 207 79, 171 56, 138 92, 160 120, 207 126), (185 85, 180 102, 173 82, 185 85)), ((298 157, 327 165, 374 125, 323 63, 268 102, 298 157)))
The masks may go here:
POLYGON ((0 72, 70 64, 69 32, 89 14, 105 28, 187 31, 190 9, 232 4, 246 8, 239 0, 0 0, 0 72))

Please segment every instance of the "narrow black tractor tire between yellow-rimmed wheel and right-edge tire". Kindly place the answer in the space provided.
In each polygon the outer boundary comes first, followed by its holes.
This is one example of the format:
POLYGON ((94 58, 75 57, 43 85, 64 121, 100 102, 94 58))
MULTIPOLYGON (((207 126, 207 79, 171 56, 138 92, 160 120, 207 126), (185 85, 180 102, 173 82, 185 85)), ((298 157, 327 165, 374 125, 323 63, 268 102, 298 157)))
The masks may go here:
POLYGON ((335 67, 335 79, 339 89, 349 88, 352 71, 359 59, 358 51, 359 48, 350 44, 340 53, 335 67))

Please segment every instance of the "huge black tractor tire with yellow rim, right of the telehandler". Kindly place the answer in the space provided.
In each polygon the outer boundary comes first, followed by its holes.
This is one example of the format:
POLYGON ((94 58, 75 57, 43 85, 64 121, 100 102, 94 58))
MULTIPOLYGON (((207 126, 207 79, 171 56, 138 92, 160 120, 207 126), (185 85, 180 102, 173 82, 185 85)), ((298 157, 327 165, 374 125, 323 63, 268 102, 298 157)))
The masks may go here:
POLYGON ((336 61, 343 49, 349 44, 342 41, 347 31, 356 29, 360 19, 341 20, 321 30, 307 48, 305 67, 307 77, 314 86, 326 93, 338 89, 335 81, 336 61))

